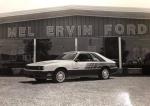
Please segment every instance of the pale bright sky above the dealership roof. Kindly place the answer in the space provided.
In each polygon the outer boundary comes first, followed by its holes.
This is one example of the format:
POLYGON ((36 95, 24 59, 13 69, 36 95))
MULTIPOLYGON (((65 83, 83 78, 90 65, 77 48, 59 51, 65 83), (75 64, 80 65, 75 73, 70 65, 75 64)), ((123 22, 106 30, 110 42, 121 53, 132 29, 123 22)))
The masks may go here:
POLYGON ((0 0, 0 13, 66 5, 149 8, 150 0, 0 0))

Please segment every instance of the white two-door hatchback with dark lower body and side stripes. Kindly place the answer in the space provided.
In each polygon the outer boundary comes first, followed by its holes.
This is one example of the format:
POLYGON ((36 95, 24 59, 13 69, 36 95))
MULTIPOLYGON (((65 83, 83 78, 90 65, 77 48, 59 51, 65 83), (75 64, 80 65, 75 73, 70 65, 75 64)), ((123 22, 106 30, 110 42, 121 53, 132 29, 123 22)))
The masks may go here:
POLYGON ((25 75, 37 81, 53 79, 63 82, 73 76, 93 76, 108 79, 117 71, 116 62, 96 52, 72 51, 58 56, 56 60, 41 61, 27 64, 25 75))

